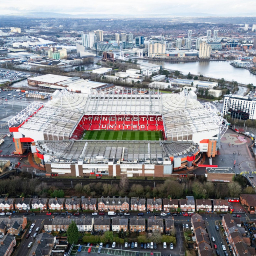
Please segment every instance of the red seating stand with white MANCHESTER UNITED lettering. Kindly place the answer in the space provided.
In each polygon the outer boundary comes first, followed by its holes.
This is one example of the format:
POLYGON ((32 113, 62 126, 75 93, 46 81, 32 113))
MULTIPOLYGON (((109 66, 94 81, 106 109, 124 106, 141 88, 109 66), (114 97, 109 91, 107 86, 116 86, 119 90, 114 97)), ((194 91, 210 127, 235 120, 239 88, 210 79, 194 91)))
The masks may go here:
POLYGON ((71 139, 79 140, 85 130, 164 131, 164 126, 161 115, 84 115, 71 139))

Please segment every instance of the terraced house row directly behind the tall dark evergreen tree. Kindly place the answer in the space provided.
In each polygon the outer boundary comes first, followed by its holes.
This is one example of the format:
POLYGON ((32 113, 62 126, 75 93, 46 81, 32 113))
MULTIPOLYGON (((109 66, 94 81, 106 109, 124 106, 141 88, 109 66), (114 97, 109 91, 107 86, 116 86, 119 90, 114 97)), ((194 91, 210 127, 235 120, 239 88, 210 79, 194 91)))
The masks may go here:
POLYGON ((44 230, 48 231, 66 231, 71 224, 71 221, 75 221, 75 224, 80 232, 93 230, 93 218, 62 218, 60 216, 54 217, 52 220, 44 221, 44 230))

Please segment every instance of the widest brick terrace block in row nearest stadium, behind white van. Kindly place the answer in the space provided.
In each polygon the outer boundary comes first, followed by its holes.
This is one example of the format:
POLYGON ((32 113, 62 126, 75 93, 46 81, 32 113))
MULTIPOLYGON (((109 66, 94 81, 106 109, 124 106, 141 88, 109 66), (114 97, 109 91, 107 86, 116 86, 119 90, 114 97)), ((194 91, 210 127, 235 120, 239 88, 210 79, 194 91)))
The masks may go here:
POLYGON ((98 199, 98 210, 99 211, 129 211, 130 199, 127 197, 116 198, 113 196, 110 198, 104 198, 103 196, 98 199))

